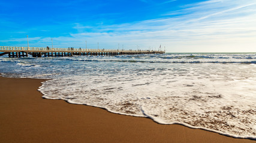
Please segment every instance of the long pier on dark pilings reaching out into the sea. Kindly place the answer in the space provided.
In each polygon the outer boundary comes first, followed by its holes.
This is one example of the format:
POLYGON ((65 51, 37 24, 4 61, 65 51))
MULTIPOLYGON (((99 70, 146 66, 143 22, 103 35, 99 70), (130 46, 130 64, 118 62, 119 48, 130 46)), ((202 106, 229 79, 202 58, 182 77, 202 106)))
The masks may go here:
POLYGON ((0 46, 0 56, 8 54, 10 58, 28 57, 70 57, 73 55, 132 55, 164 54, 165 51, 124 50, 124 49, 82 49, 82 48, 40 48, 23 46, 0 46))

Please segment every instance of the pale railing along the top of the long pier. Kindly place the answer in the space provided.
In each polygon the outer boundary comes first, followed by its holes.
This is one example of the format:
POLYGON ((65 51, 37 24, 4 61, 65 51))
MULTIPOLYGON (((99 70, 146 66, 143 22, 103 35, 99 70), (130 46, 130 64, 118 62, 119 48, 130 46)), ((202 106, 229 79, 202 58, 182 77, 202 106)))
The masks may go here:
POLYGON ((164 52, 149 50, 132 50, 132 49, 82 49, 82 48, 41 48, 41 47, 24 47, 24 46, 0 46, 0 52, 164 52))

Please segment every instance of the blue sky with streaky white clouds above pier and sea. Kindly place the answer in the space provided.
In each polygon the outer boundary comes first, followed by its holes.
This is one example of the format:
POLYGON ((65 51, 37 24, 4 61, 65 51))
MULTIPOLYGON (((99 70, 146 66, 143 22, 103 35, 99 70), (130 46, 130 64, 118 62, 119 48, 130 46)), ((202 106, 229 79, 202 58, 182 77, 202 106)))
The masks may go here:
POLYGON ((256 52, 256 0, 1 0, 0 32, 0 46, 256 52))

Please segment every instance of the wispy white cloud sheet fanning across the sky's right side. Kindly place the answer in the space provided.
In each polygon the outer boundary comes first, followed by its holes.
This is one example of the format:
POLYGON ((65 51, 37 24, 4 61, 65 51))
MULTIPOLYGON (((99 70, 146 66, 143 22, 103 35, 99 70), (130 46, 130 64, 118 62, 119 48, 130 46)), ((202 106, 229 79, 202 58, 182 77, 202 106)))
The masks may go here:
MULTIPOLYGON (((146 2, 146 1, 144 1, 146 2)), ((166 1, 167 3, 173 1, 166 1)), ((58 47, 157 48, 169 52, 256 52, 256 2, 210 0, 184 5, 180 10, 162 13, 162 18, 130 23, 91 26, 74 23, 68 36, 53 38, 58 47)), ((37 39, 37 38, 36 38, 37 39)), ((29 40, 50 45, 51 38, 29 40)), ((26 41, 26 39, 12 39, 26 41)), ((1 42, 1 41, 0 41, 1 42)), ((8 42, 8 41, 6 41, 8 42)))

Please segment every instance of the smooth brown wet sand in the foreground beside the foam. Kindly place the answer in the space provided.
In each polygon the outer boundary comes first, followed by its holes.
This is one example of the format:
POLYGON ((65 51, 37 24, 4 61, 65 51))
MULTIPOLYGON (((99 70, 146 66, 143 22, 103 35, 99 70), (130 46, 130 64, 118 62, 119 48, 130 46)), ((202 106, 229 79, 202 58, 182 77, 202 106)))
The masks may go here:
POLYGON ((0 142, 256 142, 46 100, 43 81, 0 77, 0 142))

